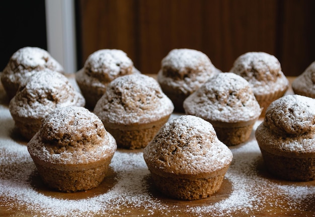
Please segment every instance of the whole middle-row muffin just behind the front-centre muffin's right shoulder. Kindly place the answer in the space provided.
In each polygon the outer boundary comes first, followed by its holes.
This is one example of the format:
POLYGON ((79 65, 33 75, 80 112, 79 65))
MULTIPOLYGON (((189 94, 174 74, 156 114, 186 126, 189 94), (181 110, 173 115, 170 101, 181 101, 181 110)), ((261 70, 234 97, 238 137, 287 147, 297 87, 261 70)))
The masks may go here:
POLYGON ((184 101, 184 109, 209 121, 227 146, 248 140, 261 113, 250 84, 233 73, 209 79, 184 101))

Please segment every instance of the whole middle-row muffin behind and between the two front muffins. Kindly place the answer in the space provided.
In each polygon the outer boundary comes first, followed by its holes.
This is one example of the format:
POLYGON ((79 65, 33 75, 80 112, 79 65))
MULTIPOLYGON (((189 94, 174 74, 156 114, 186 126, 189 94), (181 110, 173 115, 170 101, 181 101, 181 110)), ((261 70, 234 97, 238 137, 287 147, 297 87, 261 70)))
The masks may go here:
POLYGON ((153 78, 134 74, 112 81, 94 113, 119 148, 138 149, 149 143, 173 110, 172 101, 153 78))

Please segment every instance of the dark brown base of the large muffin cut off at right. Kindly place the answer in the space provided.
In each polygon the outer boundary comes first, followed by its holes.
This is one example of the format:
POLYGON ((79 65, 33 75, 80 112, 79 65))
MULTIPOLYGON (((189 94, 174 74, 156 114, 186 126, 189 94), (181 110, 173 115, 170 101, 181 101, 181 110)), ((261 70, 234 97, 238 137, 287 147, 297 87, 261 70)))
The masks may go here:
POLYGON ((292 158, 274 155, 260 148, 267 170, 289 181, 315 180, 315 158, 292 158))

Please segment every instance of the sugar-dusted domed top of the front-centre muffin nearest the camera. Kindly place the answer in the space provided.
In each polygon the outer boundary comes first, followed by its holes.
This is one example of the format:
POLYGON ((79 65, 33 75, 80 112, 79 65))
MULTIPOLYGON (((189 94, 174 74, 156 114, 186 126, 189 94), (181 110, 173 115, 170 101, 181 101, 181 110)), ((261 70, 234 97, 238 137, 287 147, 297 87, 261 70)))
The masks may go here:
POLYGON ((167 122, 143 151, 150 171, 162 176, 211 177, 232 161, 213 126, 193 115, 167 122))

